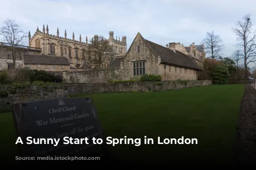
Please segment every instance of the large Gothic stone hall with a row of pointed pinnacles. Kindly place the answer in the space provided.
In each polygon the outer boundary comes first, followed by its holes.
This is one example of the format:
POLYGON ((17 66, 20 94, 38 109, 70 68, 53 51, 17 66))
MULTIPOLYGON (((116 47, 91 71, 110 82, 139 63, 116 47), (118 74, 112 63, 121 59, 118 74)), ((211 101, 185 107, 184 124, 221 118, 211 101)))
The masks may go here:
MULTIPOLYGON (((29 46, 41 48, 40 55, 51 55, 56 57, 66 57, 70 62, 71 68, 84 68, 87 65, 90 65, 91 62, 87 55, 88 46, 91 45, 88 43, 88 37, 86 36, 86 41, 83 42, 81 34, 79 36, 79 41, 75 40, 75 35, 73 32, 72 39, 67 38, 67 32, 65 30, 64 37, 61 37, 59 34, 59 29, 57 28, 57 35, 49 34, 48 25, 45 25, 42 28, 42 31, 39 31, 37 28, 34 35, 31 37, 29 32, 29 46)), ((95 36, 96 37, 96 36, 95 36)), ((123 36, 122 40, 114 39, 113 31, 109 32, 109 43, 113 46, 115 50, 115 55, 125 54, 126 53, 126 37, 123 36)), ((93 42, 93 41, 92 41, 93 42)), ((105 60, 101 66, 106 68, 109 65, 111 58, 105 60)), ((91 65, 90 68, 94 68, 95 65, 91 65)))

